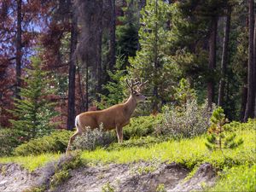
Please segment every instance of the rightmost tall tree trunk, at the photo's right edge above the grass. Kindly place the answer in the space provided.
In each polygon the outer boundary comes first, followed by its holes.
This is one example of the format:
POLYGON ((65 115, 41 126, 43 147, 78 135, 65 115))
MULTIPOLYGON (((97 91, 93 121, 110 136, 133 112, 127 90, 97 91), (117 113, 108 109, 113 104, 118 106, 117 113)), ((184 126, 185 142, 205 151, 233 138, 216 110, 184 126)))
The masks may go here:
POLYGON ((253 100, 255 84, 253 80, 253 36, 254 36, 254 3, 253 0, 249 0, 249 45, 248 45, 248 71, 247 71, 247 108, 243 121, 247 121, 248 118, 253 118, 253 100))

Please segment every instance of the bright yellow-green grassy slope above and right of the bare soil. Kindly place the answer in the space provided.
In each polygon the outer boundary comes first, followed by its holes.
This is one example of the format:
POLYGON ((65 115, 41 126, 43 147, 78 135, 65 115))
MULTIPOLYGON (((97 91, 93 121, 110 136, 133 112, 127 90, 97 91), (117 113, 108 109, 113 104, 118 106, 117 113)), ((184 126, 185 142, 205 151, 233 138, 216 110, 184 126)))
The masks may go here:
MULTIPOLYGON (((236 131, 237 137, 242 137, 244 143, 236 149, 224 149, 210 152, 206 146, 206 137, 182 139, 152 144, 149 147, 119 148, 118 150, 96 149, 84 151, 81 158, 91 164, 97 163, 129 163, 139 160, 160 160, 181 163, 189 168, 194 168, 201 163, 209 162, 219 170, 218 183, 212 191, 256 191, 256 130, 254 124, 242 127, 236 131), (230 168, 231 167, 231 168, 230 168), (220 173, 220 172, 219 172, 220 173)), ((16 162, 32 171, 38 166, 57 160, 60 154, 41 154, 38 156, 6 157, 0 158, 0 163, 16 162)))

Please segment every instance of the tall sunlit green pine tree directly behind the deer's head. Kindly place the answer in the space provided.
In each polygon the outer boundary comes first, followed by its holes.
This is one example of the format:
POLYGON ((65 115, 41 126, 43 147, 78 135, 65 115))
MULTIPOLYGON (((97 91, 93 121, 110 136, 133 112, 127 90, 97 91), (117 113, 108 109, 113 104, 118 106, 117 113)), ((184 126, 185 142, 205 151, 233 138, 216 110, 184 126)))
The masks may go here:
POLYGON ((172 85, 177 79, 177 67, 173 65, 167 50, 171 45, 170 5, 162 1, 147 1, 141 11, 141 28, 139 30, 140 50, 130 58, 129 72, 134 78, 148 80, 145 91, 152 92, 152 110, 158 111, 160 102, 170 100, 172 85), (165 90, 165 91, 162 91, 165 90))

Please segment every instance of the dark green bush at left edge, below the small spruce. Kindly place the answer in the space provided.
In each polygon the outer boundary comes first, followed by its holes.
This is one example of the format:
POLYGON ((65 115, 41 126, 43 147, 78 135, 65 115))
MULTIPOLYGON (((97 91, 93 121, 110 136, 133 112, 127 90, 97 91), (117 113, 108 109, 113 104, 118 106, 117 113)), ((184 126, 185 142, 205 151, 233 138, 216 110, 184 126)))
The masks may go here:
POLYGON ((9 155, 13 149, 22 143, 20 131, 14 129, 0 130, 0 156, 9 155))

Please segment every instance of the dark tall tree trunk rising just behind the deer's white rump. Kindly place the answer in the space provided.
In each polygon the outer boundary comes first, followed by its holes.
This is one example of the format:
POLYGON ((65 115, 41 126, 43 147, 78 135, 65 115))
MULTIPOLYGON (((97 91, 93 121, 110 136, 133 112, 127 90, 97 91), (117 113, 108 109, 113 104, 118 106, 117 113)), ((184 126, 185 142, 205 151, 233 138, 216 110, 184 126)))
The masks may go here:
POLYGON ((77 30, 77 17, 72 3, 72 26, 71 26, 71 38, 70 38, 70 55, 69 55, 69 76, 68 76, 68 103, 67 103, 67 130, 73 130, 75 119, 75 81, 76 81, 76 58, 74 55, 78 30, 77 30))

